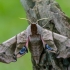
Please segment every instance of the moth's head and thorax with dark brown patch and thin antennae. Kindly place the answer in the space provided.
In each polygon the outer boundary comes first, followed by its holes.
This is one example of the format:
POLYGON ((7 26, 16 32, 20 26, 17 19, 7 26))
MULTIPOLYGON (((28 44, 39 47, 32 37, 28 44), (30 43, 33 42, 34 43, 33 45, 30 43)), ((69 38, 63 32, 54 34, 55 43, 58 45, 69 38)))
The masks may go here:
POLYGON ((41 34, 42 27, 40 25, 38 25, 38 21, 41 21, 41 20, 44 20, 44 19, 48 19, 48 18, 38 19, 35 23, 32 22, 29 19, 26 19, 26 18, 20 18, 20 19, 28 20, 31 23, 27 27, 27 35, 29 36, 29 35, 41 34))

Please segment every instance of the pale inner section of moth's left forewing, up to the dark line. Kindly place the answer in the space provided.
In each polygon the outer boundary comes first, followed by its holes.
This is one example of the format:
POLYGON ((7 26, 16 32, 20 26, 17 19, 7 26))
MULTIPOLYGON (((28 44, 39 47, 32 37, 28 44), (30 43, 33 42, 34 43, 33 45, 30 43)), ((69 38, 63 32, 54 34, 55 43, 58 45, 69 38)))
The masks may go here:
POLYGON ((26 41, 27 41, 27 32, 26 30, 19 33, 18 35, 16 35, 16 50, 15 50, 15 54, 17 54, 19 52, 20 49, 22 49, 23 46, 26 45, 26 41))

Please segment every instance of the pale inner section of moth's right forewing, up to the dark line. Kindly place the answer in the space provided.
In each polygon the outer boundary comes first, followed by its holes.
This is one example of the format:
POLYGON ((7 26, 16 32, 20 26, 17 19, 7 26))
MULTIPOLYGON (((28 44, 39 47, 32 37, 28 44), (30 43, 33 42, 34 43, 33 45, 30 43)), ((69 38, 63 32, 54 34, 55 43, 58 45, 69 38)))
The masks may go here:
POLYGON ((45 44, 48 44, 51 48, 53 48, 52 52, 55 53, 57 51, 57 47, 53 40, 52 32, 46 29, 42 29, 42 39, 45 44))

